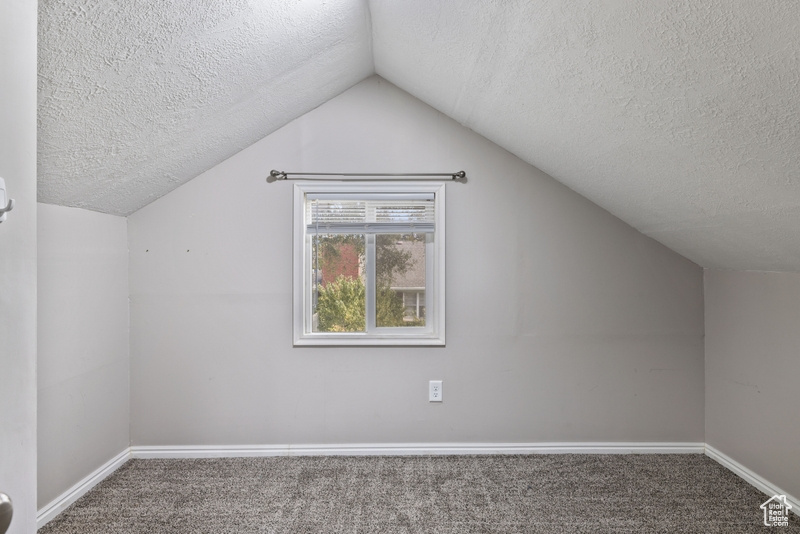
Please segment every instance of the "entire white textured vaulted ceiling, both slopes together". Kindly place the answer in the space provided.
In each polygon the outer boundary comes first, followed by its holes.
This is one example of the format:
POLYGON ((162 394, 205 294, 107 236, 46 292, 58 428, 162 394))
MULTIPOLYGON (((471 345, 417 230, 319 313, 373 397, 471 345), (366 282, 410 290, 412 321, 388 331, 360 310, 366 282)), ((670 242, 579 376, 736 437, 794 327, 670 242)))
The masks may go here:
POLYGON ((42 202, 132 213, 377 73, 702 266, 800 271, 797 2, 39 9, 42 202))

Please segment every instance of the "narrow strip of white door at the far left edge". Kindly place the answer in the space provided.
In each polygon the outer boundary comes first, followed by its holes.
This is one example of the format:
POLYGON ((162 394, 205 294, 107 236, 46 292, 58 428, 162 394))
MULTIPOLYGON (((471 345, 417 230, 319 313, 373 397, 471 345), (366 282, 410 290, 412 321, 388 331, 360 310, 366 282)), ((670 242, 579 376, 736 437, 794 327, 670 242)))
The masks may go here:
POLYGON ((10 534, 36 530, 36 2, 0 2, 0 492, 10 534))

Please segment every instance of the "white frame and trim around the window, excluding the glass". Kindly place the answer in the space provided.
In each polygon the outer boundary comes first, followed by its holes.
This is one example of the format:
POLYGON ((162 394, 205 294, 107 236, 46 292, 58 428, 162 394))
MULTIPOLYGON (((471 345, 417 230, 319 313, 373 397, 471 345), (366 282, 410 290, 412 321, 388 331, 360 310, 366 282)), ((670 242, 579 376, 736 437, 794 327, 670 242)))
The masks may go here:
MULTIPOLYGON (((294 185, 294 268, 293 268, 293 330, 294 345, 321 346, 440 346, 445 344, 445 184, 430 182, 405 183, 297 183, 294 185), (375 328, 369 326, 374 304, 367 302, 368 332, 312 332, 311 331, 311 262, 306 261, 310 251, 310 234, 306 231, 305 207, 308 194, 387 194, 433 193, 433 239, 426 244, 426 317, 424 327, 375 328), (370 328, 372 329, 371 331, 370 328)), ((374 234, 372 234, 374 235, 374 234)), ((367 261, 370 247, 367 247, 367 261)), ((367 290, 367 298, 374 289, 367 290)), ((374 298, 374 297, 372 297, 374 298)))

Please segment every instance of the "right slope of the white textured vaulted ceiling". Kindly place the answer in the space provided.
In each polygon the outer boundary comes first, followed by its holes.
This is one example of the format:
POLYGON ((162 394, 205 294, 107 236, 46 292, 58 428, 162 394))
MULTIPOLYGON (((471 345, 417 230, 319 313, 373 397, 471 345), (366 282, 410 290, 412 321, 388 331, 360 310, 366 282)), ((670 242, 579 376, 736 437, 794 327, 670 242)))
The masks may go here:
POLYGON ((800 271, 800 3, 370 9, 382 77, 700 265, 800 271))

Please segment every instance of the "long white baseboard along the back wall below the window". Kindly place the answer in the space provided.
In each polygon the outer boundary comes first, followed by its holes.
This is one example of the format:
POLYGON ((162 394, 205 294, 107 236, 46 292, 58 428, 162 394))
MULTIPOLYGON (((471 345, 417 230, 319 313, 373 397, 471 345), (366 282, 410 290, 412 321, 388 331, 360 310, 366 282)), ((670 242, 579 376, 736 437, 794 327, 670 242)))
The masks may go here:
POLYGON ((133 458, 415 456, 447 454, 703 454, 703 443, 361 443, 348 445, 133 446, 133 458))

